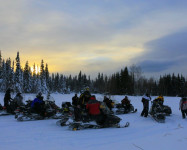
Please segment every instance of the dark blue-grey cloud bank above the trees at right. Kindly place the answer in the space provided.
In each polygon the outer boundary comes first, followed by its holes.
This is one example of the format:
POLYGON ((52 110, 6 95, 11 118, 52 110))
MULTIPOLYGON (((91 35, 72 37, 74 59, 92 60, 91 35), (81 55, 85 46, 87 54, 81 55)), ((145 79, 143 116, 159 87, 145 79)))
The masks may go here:
MULTIPOLYGON (((145 44, 145 51, 138 65, 145 72, 185 72, 187 65, 187 30, 182 30, 145 44)), ((187 73, 187 72, 185 72, 187 73)))

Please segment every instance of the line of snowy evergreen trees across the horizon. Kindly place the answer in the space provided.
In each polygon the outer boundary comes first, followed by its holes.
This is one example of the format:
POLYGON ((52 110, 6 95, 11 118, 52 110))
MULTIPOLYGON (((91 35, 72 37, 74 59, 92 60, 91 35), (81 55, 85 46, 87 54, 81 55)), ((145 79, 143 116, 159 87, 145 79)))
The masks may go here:
POLYGON ((26 61, 22 68, 19 52, 15 61, 4 60, 0 52, 0 92, 8 88, 14 92, 23 93, 79 93, 89 87, 92 93, 113 95, 151 95, 180 96, 187 95, 187 81, 181 74, 166 74, 159 79, 143 76, 141 67, 132 65, 124 67, 112 75, 98 73, 95 79, 83 74, 65 76, 59 73, 49 73, 48 64, 41 60, 40 66, 33 64, 31 68, 26 61))

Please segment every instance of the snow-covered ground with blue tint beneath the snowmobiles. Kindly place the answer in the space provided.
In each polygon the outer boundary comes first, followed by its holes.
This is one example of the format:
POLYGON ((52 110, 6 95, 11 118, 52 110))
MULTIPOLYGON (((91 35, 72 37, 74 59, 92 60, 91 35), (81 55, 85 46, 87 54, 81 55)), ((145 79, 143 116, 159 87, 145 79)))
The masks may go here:
MULTIPOLYGON (((25 94, 24 99, 35 95, 25 94)), ((70 101, 73 94, 52 94, 57 105, 70 101)), ((3 104, 4 93, 0 93, 3 104)), ((121 101, 124 96, 113 96, 121 101)), ((103 95, 96 95, 99 100, 103 95)), ((18 122, 14 116, 0 116, 0 150, 185 150, 187 147, 187 119, 179 111, 179 97, 165 97, 165 105, 173 114, 165 123, 151 117, 140 117, 141 97, 131 97, 137 113, 119 115, 128 128, 105 128, 70 131, 56 125, 57 120, 18 122)), ((152 97, 153 99, 154 97, 152 97)))

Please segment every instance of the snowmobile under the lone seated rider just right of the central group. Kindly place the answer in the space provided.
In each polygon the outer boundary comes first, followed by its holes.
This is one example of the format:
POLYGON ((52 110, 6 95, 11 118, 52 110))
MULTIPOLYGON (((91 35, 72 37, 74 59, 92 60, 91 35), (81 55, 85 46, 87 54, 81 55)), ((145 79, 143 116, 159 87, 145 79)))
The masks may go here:
POLYGON ((137 109, 134 109, 134 106, 132 104, 130 104, 130 109, 127 109, 127 107, 122 104, 116 104, 114 109, 113 109, 114 113, 116 115, 120 115, 120 114, 127 114, 127 113, 135 113, 137 112, 137 109))

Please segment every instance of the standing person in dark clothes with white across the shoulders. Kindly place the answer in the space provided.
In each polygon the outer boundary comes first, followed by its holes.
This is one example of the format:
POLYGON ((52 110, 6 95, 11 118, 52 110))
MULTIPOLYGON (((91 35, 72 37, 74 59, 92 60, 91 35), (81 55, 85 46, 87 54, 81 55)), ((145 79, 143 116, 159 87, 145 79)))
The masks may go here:
POLYGON ((143 110, 141 116, 147 117, 149 112, 149 101, 151 101, 150 95, 147 93, 142 97, 143 110))

